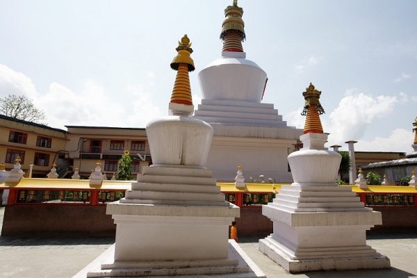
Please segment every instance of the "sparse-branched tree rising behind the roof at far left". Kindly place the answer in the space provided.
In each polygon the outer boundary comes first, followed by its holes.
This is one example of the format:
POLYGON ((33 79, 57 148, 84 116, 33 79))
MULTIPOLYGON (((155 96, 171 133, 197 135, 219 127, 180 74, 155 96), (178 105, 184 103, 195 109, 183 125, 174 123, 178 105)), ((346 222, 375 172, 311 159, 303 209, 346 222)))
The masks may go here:
POLYGON ((0 98, 0 113, 8 117, 44 124, 44 111, 33 105, 33 100, 24 95, 8 95, 0 98))

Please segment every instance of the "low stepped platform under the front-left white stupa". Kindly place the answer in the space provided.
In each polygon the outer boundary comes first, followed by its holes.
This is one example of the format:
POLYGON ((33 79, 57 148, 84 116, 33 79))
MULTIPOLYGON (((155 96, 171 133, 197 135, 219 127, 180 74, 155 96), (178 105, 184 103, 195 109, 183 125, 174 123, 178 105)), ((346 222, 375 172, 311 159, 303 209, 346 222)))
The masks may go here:
MULTIPOLYGON (((200 250, 201 251, 201 250, 200 250)), ((226 259, 172 261, 114 261, 115 245, 78 272, 73 278, 85 277, 265 277, 265 274, 229 240, 226 259)))

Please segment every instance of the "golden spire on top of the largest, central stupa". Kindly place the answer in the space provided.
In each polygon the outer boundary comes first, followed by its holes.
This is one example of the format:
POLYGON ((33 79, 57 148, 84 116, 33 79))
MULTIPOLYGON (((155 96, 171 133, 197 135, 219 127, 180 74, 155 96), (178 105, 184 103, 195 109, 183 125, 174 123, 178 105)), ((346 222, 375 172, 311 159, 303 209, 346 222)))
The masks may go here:
POLYGON ((224 9, 224 19, 220 39, 223 40, 222 51, 243 52, 242 42, 246 39, 245 23, 242 19, 243 8, 238 6, 238 1, 233 1, 233 6, 224 9))

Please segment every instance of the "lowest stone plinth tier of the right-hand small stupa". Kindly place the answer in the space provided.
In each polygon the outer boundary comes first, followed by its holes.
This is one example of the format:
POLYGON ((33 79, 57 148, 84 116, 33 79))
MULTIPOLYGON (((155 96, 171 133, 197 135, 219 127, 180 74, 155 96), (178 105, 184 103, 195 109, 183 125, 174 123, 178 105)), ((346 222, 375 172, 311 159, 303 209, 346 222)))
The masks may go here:
MULTIPOLYGON (((390 261, 386 256, 375 252, 375 250, 365 248, 365 254, 359 255, 349 252, 349 248, 340 248, 339 255, 316 256, 311 259, 293 259, 288 256, 288 248, 279 244, 271 237, 259 240, 259 251, 267 255, 288 272, 306 272, 317 270, 357 270, 357 269, 379 269, 390 268, 390 261), (368 250, 366 250, 368 249, 368 250)), ((352 250, 356 249, 352 247, 352 250)), ((335 251, 335 250, 334 250, 335 251)), ((320 253, 319 250, 316 251, 320 253)), ((359 254, 361 254, 359 252, 359 254)))

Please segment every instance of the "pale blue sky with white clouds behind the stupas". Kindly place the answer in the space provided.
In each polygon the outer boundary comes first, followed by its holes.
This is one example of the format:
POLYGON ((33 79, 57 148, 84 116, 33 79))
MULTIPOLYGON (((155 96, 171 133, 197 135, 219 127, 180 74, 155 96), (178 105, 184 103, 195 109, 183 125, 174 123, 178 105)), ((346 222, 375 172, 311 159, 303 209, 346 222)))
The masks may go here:
MULTIPOLYGON (((144 127, 167 114, 184 33, 190 73, 220 57, 224 8, 212 1, 2 1, 0 96, 26 95, 50 126, 144 127)), ((417 116, 417 1, 240 0, 247 58, 268 74, 263 102, 302 128, 302 92, 322 91, 329 145, 410 152, 417 116)))

